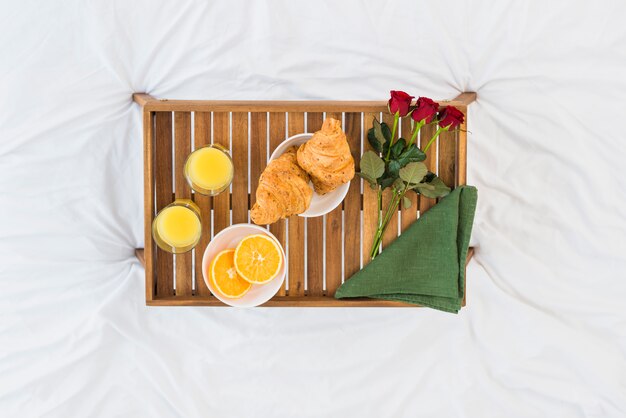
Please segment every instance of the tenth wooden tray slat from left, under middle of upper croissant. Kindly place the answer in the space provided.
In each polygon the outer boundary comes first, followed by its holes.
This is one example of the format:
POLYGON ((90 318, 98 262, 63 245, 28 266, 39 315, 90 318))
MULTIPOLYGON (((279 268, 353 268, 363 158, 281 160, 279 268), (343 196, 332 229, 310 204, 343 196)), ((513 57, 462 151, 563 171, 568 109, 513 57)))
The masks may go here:
MULTIPOLYGON (((342 119, 341 113, 327 112, 327 118, 342 119)), ((326 295, 333 296, 341 286, 342 274, 342 215, 341 205, 325 215, 326 217, 326 295)))

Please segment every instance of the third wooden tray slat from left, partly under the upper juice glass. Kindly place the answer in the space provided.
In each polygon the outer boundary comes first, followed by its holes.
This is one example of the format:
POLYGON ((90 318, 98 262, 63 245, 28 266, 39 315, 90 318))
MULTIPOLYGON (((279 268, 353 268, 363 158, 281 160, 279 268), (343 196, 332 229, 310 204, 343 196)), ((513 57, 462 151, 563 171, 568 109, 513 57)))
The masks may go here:
MULTIPOLYGON (((196 112, 194 114, 194 148, 198 149, 211 143, 211 114, 209 112, 196 112)), ((202 275, 202 257, 204 250, 211 241, 211 206, 210 196, 194 193, 194 201, 200 208, 202 217, 202 236, 194 249, 196 257, 196 295, 209 296, 211 292, 204 282, 202 275)))

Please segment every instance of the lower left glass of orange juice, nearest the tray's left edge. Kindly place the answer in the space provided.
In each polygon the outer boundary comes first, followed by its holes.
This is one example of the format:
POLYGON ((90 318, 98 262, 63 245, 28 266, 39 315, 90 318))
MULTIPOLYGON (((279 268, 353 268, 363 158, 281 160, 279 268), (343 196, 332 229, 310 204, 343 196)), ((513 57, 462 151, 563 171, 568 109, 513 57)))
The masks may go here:
POLYGON ((202 235, 200 208, 189 199, 176 199, 157 214, 152 222, 152 236, 157 245, 180 254, 194 248, 202 235))

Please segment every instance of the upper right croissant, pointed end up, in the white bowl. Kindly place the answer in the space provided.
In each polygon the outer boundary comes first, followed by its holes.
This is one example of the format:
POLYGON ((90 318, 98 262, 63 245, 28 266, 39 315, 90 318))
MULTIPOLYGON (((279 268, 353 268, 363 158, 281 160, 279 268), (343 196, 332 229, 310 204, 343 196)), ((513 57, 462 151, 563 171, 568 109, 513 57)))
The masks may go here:
POLYGON ((310 176, 318 194, 332 192, 354 177, 354 159, 341 122, 327 118, 322 129, 298 149, 298 164, 310 176))

